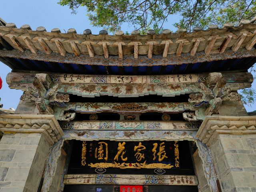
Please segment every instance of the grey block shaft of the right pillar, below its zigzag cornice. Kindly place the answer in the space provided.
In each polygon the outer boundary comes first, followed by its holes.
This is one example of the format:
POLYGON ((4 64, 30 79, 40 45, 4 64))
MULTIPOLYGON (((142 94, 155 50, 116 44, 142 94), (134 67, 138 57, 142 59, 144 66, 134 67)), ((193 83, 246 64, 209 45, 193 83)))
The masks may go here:
POLYGON ((256 134, 219 134, 210 151, 223 192, 256 192, 256 134))

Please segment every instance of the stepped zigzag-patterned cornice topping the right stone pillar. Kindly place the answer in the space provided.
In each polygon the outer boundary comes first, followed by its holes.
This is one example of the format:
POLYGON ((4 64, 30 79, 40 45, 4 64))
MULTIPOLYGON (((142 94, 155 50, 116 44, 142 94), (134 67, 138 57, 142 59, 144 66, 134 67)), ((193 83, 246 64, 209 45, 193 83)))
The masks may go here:
POLYGON ((202 122, 196 137, 210 146, 218 134, 255 134, 256 116, 208 116, 202 122))

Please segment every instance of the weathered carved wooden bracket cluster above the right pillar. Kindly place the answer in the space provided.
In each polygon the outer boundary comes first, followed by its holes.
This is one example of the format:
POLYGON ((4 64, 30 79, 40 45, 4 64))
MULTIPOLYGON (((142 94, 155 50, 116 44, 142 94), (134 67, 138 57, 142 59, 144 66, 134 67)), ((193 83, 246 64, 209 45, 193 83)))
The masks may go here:
POLYGON ((192 102, 194 107, 208 106, 206 115, 218 114, 222 101, 241 99, 237 92, 231 92, 231 89, 226 86, 226 79, 218 72, 208 74, 206 81, 200 83, 199 93, 189 96, 188 101, 192 102))

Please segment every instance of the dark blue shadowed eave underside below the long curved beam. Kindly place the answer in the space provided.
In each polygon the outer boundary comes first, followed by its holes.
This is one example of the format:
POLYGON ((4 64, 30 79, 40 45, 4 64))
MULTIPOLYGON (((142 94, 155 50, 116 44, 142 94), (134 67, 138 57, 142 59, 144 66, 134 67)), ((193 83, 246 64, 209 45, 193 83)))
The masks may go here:
POLYGON ((82 65, 8 57, 0 57, 0 61, 12 68, 13 70, 30 70, 39 72, 74 74, 157 75, 247 70, 254 63, 256 63, 256 58, 248 57, 192 64, 174 64, 166 66, 104 66, 88 64, 82 65))

